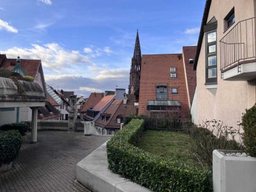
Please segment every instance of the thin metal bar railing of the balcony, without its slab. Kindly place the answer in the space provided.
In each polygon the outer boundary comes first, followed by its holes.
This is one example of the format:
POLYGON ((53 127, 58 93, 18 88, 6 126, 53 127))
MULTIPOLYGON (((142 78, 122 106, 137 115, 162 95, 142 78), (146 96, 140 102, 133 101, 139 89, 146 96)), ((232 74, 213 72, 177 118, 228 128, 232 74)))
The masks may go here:
POLYGON ((255 21, 255 17, 241 20, 221 38, 221 72, 256 59, 255 21))

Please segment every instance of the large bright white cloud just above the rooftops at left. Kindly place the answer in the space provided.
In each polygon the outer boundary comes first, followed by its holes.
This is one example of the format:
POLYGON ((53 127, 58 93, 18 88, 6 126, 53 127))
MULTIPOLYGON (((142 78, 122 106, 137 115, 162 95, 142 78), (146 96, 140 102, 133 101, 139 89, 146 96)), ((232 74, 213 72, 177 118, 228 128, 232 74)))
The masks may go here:
POLYGON ((59 44, 51 43, 44 45, 32 44, 29 48, 13 47, 4 52, 8 58, 28 58, 34 60, 42 60, 43 67, 58 73, 63 72, 63 69, 71 70, 70 66, 90 64, 92 65, 88 56, 84 56, 79 51, 67 50, 59 44), (61 71, 60 71, 61 70, 61 71))

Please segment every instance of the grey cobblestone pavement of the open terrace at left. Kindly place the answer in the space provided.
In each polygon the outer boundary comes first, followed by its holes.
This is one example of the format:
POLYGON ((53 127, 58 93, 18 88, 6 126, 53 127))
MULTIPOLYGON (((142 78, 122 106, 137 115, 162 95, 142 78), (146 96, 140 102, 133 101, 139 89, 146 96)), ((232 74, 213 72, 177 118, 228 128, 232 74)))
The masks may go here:
POLYGON ((0 175, 0 191, 90 191, 76 181, 76 164, 109 136, 38 131, 37 144, 22 144, 12 170, 0 175))

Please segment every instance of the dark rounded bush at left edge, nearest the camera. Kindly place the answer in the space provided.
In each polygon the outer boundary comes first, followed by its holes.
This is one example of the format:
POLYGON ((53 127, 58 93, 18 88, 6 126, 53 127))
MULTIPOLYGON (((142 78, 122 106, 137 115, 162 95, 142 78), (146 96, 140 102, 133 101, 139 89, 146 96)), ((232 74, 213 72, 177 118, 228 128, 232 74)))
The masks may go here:
POLYGON ((19 156, 21 135, 17 130, 0 131, 0 166, 19 156))

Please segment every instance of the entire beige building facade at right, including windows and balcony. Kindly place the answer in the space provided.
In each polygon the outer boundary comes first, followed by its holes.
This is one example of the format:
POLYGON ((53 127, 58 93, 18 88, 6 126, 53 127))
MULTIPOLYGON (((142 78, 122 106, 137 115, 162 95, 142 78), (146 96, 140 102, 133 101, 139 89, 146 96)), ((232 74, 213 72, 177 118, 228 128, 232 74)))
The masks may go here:
POLYGON ((256 1, 206 1, 194 69, 195 124, 221 120, 237 127, 256 102, 256 1))

